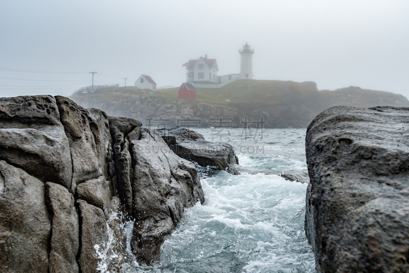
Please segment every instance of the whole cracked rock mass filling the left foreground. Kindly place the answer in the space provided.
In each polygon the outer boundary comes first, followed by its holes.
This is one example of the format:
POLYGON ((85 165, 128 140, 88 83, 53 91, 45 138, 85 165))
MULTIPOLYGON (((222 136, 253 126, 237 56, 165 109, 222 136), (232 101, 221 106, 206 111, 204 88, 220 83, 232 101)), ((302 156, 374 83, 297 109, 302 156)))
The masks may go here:
POLYGON ((138 120, 61 96, 0 98, 0 271, 118 270, 131 255, 150 263, 197 202, 195 165, 138 120))

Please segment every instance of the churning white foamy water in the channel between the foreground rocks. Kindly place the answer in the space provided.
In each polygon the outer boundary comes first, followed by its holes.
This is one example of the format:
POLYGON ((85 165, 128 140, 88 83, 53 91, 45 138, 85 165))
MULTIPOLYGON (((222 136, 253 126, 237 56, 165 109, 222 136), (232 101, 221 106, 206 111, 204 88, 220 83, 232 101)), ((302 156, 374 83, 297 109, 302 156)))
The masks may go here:
POLYGON ((221 257, 219 264, 226 267, 224 256, 232 255, 231 262, 246 261, 241 269, 246 272, 312 272, 300 214, 307 185, 276 175, 221 176, 201 180, 206 203, 188 209, 162 246, 161 263, 188 269, 221 257))

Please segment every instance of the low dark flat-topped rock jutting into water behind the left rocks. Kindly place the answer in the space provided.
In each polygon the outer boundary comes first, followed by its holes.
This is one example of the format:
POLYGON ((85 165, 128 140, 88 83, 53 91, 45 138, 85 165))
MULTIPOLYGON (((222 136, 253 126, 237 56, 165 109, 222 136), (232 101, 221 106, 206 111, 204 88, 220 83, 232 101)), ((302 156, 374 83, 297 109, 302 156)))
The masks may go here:
POLYGON ((239 160, 229 143, 207 141, 202 135, 185 128, 159 129, 158 132, 179 157, 203 167, 213 166, 231 174, 239 173, 239 160))

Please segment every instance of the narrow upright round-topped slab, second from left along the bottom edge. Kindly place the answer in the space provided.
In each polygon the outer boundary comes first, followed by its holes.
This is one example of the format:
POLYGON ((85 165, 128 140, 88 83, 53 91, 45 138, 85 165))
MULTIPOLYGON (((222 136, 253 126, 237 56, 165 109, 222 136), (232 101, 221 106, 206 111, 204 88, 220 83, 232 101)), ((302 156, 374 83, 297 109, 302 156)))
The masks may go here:
POLYGON ((46 183, 47 205, 51 214, 49 272, 78 272, 78 214, 74 196, 58 184, 46 183))

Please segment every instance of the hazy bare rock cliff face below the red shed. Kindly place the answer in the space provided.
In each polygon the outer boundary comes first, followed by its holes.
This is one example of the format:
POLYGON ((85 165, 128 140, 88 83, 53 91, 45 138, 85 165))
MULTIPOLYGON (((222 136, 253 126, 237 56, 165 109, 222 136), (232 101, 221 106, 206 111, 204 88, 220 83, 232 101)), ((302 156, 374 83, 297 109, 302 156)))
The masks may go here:
POLYGON ((151 123, 156 127, 157 123, 166 122, 167 127, 179 126, 178 119, 199 119, 199 127, 207 127, 211 121, 209 118, 230 118, 236 127, 240 125, 240 118, 236 108, 220 104, 205 103, 201 100, 177 100, 170 101, 166 96, 158 91, 140 90, 139 88, 128 87, 109 90, 100 94, 75 95, 71 97, 74 101, 85 108, 98 108, 104 110, 108 115, 130 117, 144 122, 151 123), (145 121, 145 119, 162 118, 168 121, 145 121))

